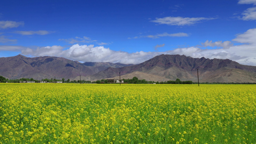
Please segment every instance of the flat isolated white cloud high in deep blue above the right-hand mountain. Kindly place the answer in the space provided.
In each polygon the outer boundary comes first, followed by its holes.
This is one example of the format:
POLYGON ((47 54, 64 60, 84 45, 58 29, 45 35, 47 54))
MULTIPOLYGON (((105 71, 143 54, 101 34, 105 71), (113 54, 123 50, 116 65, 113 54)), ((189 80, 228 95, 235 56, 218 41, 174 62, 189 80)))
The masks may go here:
POLYGON ((168 25, 178 25, 178 26, 183 26, 183 25, 193 25, 196 23, 199 23, 200 21, 203 20, 213 20, 216 18, 205 18, 205 17, 164 17, 164 18, 156 18, 156 20, 153 20, 151 22, 158 23, 158 24, 168 24, 168 25))

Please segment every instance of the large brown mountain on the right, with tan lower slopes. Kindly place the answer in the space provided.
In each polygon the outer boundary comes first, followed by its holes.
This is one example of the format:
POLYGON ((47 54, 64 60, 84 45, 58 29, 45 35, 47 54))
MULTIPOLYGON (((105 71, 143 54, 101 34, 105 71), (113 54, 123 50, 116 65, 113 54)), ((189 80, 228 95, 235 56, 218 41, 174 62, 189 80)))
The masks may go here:
POLYGON ((122 68, 110 67, 85 78, 92 81, 117 78, 119 72, 123 75, 121 78, 133 78, 134 75, 129 73, 137 71, 142 72, 140 79, 163 81, 179 78, 182 81, 196 82, 197 69, 200 82, 256 82, 256 66, 241 65, 228 59, 210 60, 204 57, 198 59, 184 55, 160 55, 137 65, 122 68))

